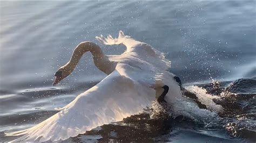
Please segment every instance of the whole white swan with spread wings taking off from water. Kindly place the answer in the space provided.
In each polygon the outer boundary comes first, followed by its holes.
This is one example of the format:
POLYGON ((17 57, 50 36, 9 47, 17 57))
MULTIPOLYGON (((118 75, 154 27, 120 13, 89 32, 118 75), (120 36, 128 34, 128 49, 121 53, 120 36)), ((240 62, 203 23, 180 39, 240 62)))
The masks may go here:
POLYGON ((42 123, 6 135, 22 135, 14 141, 65 140, 143 112, 143 108, 151 106, 156 96, 163 92, 160 87, 164 84, 170 88, 166 102, 181 97, 174 75, 166 71, 170 61, 152 46, 126 36, 122 31, 117 39, 111 35, 96 39, 106 45, 124 44, 127 49, 121 55, 104 55, 93 42, 82 42, 73 51, 70 61, 58 69, 53 84, 71 74, 87 51, 92 53, 95 65, 108 76, 42 123))

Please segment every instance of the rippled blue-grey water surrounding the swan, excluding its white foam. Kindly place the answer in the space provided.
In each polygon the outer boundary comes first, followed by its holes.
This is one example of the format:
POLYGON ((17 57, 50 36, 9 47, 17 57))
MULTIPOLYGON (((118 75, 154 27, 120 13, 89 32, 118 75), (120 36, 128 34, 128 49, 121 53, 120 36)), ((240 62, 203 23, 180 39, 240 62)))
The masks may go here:
MULTIPOLYGON (((43 121, 102 80, 105 75, 85 54, 71 76, 51 85, 79 42, 123 30, 165 52, 185 87, 197 85, 219 96, 214 102, 224 108, 221 120, 205 125, 164 111, 151 118, 145 111, 69 141, 255 142, 255 6, 255 1, 1 1, 0 141, 11 139, 4 131, 43 121)), ((105 54, 124 51, 100 46, 105 54)))

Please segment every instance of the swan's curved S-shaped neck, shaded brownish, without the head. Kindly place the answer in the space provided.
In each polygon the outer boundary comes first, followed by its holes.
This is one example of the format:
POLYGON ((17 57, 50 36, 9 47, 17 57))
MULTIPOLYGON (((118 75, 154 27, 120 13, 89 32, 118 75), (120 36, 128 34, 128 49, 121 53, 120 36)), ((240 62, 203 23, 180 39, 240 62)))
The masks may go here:
POLYGON ((114 63, 107 58, 102 52, 102 49, 98 45, 93 42, 81 42, 73 51, 71 59, 65 66, 70 67, 73 71, 81 57, 86 52, 92 53, 93 62, 95 63, 96 67, 102 70, 106 74, 110 74, 113 71, 114 63))

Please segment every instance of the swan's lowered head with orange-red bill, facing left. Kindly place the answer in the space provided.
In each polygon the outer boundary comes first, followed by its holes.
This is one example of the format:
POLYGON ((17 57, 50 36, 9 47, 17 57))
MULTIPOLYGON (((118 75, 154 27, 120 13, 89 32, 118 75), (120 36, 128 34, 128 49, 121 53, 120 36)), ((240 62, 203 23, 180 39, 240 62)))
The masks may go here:
POLYGON ((69 76, 73 71, 73 68, 69 66, 60 67, 55 75, 55 80, 53 81, 52 85, 56 85, 59 81, 63 80, 65 77, 69 76))

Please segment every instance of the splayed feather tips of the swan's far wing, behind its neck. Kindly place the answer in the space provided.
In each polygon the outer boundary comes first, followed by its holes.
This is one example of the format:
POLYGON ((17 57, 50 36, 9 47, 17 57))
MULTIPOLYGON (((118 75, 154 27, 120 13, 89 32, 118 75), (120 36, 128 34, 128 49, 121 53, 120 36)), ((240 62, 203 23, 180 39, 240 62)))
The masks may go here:
POLYGON ((112 35, 107 35, 107 37, 103 37, 103 35, 100 35, 100 37, 96 36, 96 39, 105 45, 124 44, 124 41, 129 38, 131 37, 128 35, 124 35, 123 31, 119 31, 118 38, 113 38, 112 35))

